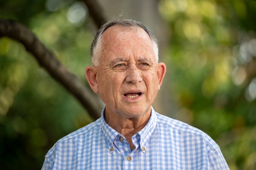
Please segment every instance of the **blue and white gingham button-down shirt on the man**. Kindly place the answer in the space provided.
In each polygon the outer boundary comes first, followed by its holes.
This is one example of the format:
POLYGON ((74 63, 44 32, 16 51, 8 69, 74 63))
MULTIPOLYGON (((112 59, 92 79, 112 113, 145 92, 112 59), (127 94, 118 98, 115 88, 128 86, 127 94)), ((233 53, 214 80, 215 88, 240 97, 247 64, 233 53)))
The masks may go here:
POLYGON ((146 126, 132 136, 131 151, 125 137, 105 122, 104 112, 54 144, 42 169, 229 169, 211 137, 153 108, 146 126))

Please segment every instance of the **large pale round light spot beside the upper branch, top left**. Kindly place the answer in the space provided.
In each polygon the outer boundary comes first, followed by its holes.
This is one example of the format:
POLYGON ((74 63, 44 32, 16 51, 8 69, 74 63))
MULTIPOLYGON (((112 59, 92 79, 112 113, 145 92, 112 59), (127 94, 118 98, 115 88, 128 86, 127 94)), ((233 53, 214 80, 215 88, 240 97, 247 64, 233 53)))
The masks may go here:
POLYGON ((83 3, 75 2, 71 7, 69 7, 67 19, 73 25, 80 26, 86 20, 87 15, 87 7, 83 3))

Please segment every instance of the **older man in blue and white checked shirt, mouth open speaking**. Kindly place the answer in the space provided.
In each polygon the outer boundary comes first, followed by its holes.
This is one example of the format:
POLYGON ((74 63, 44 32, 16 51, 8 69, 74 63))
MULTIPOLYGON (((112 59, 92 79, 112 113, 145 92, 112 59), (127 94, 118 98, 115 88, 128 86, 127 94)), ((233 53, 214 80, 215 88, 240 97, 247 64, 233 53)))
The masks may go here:
POLYGON ((102 117, 60 139, 42 169, 229 169, 208 135, 152 108, 166 67, 142 23, 104 24, 91 60, 85 73, 106 105, 102 117))

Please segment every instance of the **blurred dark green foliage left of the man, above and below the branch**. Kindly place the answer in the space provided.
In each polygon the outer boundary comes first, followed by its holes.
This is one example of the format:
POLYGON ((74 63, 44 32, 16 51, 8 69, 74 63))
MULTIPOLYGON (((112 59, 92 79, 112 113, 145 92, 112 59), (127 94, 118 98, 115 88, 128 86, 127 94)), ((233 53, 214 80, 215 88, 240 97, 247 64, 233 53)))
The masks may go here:
MULTIPOLYGON (((26 25, 86 85, 92 25, 87 24, 88 14, 83 26, 69 22, 70 7, 82 5, 59 2, 59 9, 51 12, 45 1, 1 1, 0 18, 26 25)), ((41 169, 57 140, 92 121, 22 44, 0 39, 0 169, 41 169)))

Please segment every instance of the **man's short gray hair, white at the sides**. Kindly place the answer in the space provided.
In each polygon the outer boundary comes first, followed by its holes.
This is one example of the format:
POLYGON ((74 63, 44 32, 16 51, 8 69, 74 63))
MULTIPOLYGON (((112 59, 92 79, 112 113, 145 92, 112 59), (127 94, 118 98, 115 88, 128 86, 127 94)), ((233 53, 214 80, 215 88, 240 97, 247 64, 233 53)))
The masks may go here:
POLYGON ((118 19, 110 20, 109 22, 102 25, 98 30, 98 32, 96 33, 96 35, 94 36, 94 39, 91 43, 91 62, 93 66, 99 65, 99 57, 102 51, 102 34, 105 32, 105 30, 107 30, 109 27, 112 27, 114 25, 121 26, 127 29, 140 27, 143 30, 145 30, 153 43, 153 48, 156 55, 156 61, 158 62, 158 43, 153 32, 147 27, 145 27, 145 25, 141 22, 134 21, 134 20, 124 20, 118 17, 118 19))

